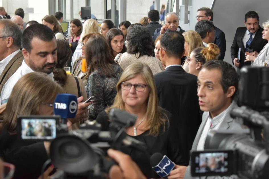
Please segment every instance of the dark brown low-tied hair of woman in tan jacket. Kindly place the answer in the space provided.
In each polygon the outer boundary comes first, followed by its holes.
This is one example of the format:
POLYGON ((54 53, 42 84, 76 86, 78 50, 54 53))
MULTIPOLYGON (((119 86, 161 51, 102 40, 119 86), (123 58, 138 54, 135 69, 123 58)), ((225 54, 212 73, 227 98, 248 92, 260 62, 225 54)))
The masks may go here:
POLYGON ((54 80, 58 82, 62 87, 65 86, 67 80, 67 74, 63 69, 65 63, 71 57, 71 48, 69 43, 64 39, 56 39, 57 41, 57 63, 54 66, 53 74, 54 80))

